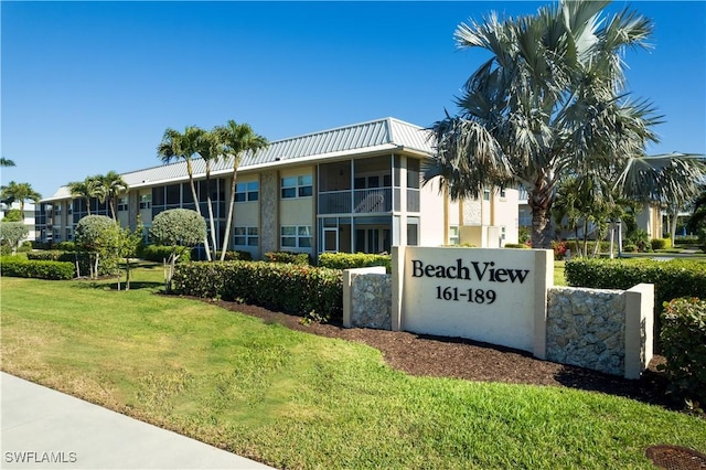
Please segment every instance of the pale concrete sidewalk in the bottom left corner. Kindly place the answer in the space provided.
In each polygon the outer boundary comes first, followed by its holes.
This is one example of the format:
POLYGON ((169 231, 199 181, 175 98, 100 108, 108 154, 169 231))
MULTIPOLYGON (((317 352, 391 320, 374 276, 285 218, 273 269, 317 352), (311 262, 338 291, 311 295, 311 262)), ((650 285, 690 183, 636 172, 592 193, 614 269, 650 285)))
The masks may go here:
POLYGON ((6 373, 0 392, 3 469, 271 469, 6 373))

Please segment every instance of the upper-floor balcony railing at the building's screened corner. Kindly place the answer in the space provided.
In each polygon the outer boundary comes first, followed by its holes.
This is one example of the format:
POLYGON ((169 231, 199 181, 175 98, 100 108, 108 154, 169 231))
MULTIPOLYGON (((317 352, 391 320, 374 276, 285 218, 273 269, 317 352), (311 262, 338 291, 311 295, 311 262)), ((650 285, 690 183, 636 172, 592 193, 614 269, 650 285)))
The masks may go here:
POLYGON ((392 212, 392 188, 319 193, 319 214, 392 212))

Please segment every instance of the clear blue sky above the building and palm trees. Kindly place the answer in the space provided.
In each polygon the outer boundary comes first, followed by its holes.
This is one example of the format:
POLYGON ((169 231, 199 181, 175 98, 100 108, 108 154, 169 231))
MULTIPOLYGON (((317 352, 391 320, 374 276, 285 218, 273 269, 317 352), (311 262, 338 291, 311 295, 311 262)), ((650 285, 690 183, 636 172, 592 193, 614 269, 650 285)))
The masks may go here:
MULTIPOLYGON (((269 140, 393 116, 430 126, 481 61, 453 31, 547 2, 9 2, 1 8, 2 184, 44 197, 161 164, 165 128, 248 122, 269 140)), ((706 153, 706 2, 618 1, 655 22, 629 90, 664 115, 649 153, 706 153)))

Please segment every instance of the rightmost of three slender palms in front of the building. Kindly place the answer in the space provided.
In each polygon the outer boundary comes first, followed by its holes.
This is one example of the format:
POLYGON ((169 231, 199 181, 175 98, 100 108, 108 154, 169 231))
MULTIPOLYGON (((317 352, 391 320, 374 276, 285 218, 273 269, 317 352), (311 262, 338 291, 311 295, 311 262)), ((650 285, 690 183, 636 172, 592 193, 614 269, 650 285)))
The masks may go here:
POLYGON ((263 136, 253 131, 247 124, 236 124, 233 119, 228 120, 225 126, 217 127, 215 132, 224 146, 225 153, 233 159, 233 177, 231 179, 231 203, 228 204, 228 217, 225 225, 225 237, 223 249, 221 250, 221 260, 225 259, 225 253, 228 246, 228 237, 231 236, 231 225, 233 224, 233 212, 235 210, 235 180, 237 179, 240 159, 246 152, 256 152, 257 150, 267 148, 269 142, 263 136))

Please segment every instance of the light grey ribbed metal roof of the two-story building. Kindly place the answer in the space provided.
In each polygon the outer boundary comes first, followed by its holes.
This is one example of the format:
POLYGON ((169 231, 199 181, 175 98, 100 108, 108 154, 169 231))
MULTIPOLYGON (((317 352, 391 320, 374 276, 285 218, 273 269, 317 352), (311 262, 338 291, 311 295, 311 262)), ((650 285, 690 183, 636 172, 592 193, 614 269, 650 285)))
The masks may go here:
MULTIPOLYGON (((270 142, 267 149, 244 154, 238 171, 400 148, 431 156, 434 146, 429 136, 430 132, 422 127, 388 117, 270 142)), ((206 168, 201 158, 192 159, 192 167, 195 179, 205 177, 206 168)), ((228 174, 232 171, 231 158, 211 164, 213 177, 228 174)), ((184 161, 122 173, 121 177, 130 188, 152 186, 189 178, 184 161)), ((69 197, 68 188, 62 186, 52 197, 43 201, 69 197)))

